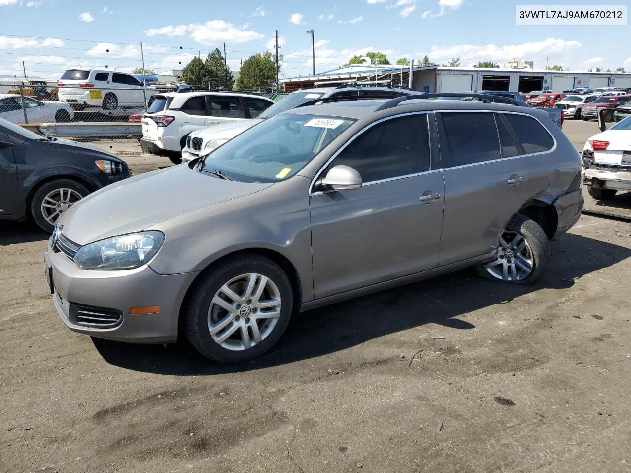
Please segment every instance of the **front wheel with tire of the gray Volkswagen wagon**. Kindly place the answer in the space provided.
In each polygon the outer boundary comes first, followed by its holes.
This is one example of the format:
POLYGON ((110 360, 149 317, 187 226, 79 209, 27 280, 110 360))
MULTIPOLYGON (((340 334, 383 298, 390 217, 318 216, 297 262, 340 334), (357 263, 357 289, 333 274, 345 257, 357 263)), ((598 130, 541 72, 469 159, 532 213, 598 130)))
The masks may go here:
POLYGON ((192 288, 186 334, 206 358, 239 363, 268 351, 285 332, 292 310, 292 284, 281 267, 260 255, 236 255, 192 288))

